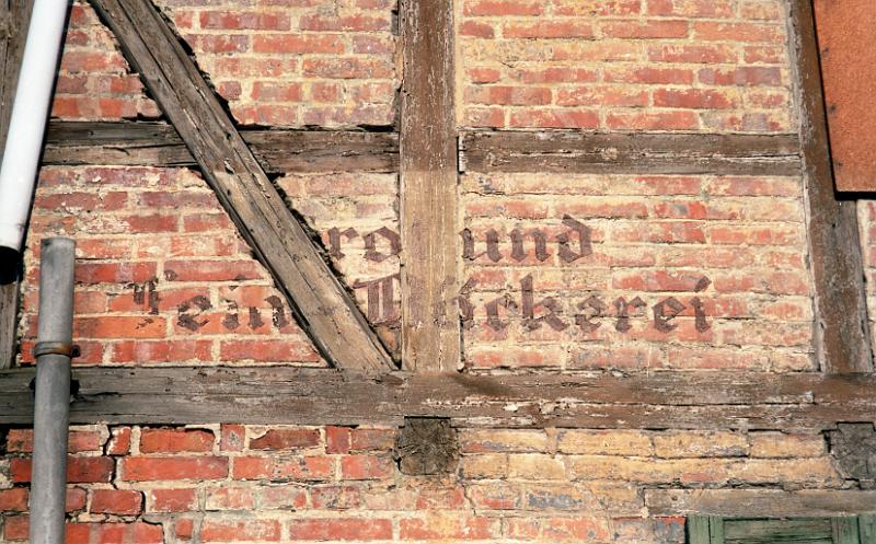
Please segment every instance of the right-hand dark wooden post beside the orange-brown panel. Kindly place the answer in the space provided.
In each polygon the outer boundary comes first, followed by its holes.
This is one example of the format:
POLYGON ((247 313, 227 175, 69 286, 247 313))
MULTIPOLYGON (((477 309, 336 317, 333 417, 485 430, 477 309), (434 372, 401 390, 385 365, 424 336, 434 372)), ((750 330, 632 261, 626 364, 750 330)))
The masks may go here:
POLYGON ((816 354, 827 372, 869 372, 873 354, 856 202, 838 200, 833 188, 811 0, 793 0, 791 19, 815 282, 816 354))

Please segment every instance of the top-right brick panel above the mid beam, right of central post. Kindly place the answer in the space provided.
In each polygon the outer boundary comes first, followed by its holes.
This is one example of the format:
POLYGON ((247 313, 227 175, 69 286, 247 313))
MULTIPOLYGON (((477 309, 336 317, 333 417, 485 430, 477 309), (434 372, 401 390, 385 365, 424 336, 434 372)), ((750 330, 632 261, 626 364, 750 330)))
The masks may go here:
POLYGON ((788 132, 779 0, 458 0, 468 127, 788 132))

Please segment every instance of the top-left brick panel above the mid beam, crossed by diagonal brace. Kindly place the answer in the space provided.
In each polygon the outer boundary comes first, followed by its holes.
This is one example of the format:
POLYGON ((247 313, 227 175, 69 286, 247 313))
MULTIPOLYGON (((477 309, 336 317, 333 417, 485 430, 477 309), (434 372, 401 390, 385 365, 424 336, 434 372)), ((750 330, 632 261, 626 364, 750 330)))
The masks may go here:
MULTIPOLYGON (((395 118, 394 2, 158 2, 242 125, 350 127, 395 118)), ((158 117, 112 33, 77 0, 53 115, 158 117)))

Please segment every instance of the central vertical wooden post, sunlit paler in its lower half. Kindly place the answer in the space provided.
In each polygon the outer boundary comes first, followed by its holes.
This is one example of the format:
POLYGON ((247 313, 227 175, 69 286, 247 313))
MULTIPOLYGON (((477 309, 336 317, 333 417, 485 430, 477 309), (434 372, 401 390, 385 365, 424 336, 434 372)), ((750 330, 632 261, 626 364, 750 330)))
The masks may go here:
POLYGON ((402 360, 447 372, 460 359, 453 1, 401 0, 400 15, 402 360))

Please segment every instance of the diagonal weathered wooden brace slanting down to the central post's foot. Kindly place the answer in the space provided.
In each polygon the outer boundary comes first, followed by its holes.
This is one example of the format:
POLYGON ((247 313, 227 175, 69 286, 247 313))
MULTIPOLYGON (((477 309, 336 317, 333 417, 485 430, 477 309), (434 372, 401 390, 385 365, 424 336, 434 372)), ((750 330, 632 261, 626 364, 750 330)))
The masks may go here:
POLYGON ((334 366, 393 367, 311 236, 286 207, 216 94, 149 0, 91 0, 219 201, 334 366))

